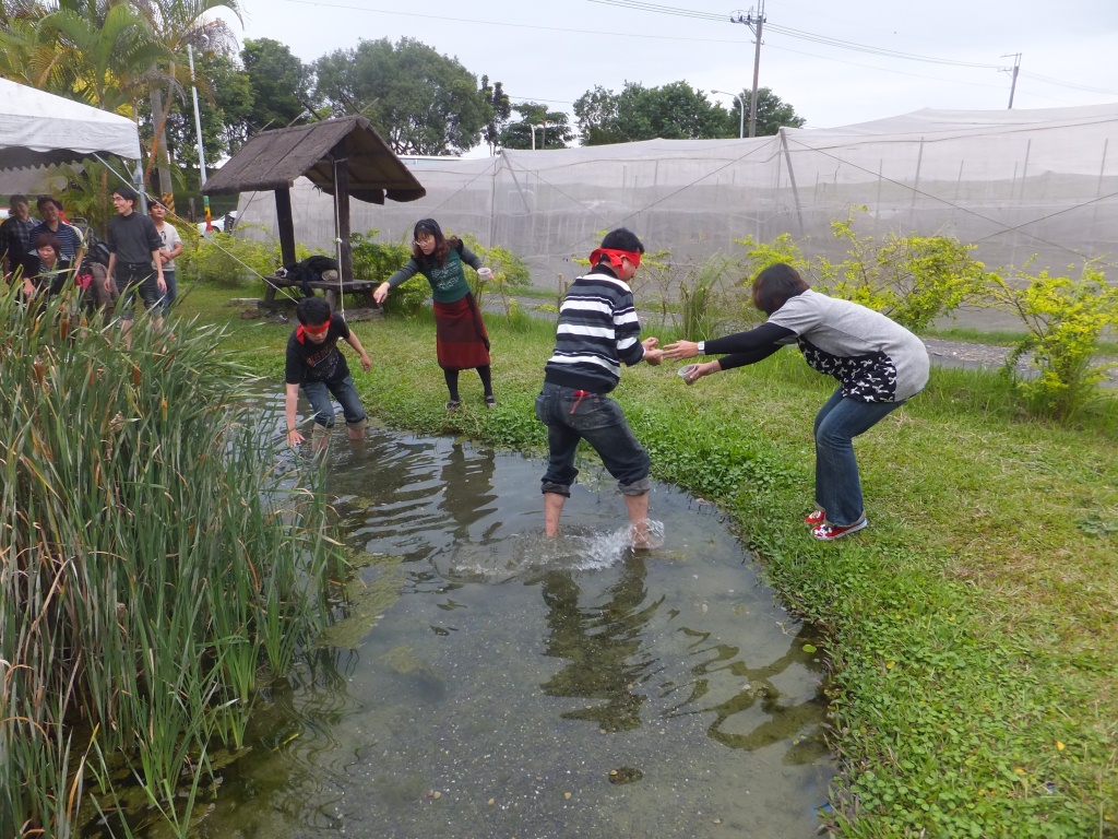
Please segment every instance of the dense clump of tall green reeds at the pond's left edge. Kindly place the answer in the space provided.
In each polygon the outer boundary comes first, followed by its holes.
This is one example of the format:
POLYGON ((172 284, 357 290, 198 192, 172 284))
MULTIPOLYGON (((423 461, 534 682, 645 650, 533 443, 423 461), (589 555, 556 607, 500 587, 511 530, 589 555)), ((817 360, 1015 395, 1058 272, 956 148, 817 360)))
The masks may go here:
POLYGON ((324 508, 218 330, 141 320, 125 351, 70 302, 0 299, 0 836, 72 836, 91 794, 114 831, 182 836, 209 753, 324 620, 324 508))

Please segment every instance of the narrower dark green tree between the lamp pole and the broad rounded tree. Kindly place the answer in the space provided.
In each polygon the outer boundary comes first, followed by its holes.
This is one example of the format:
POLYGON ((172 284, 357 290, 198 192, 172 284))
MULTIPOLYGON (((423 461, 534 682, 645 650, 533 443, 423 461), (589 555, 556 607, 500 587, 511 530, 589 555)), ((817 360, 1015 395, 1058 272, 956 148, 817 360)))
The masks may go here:
POLYGON ((314 77, 287 47, 272 38, 245 39, 240 62, 253 91, 252 109, 239 133, 244 142, 257 131, 282 129, 297 120, 304 111, 314 110, 311 95, 314 77))

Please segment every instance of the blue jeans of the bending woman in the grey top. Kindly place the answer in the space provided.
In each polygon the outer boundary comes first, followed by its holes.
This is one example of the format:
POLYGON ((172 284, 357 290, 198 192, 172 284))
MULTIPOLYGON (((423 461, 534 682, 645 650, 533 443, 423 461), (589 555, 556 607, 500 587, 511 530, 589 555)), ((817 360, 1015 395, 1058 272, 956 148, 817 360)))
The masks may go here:
POLYGON ((862 518, 862 481, 854 437, 872 428, 903 402, 859 402, 835 390, 815 416, 815 503, 827 521, 846 527, 862 518))

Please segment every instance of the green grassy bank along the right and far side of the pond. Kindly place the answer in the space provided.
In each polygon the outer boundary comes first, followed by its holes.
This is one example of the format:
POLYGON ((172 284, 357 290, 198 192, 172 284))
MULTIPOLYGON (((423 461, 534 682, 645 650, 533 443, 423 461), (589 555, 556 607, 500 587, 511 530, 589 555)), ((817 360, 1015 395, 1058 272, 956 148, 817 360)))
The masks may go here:
MULTIPOLYGON (((226 346, 281 390, 290 327, 239 321, 208 292, 191 308, 234 321, 226 346)), ((356 326, 367 407, 540 450, 551 327, 487 323, 498 409, 465 374, 465 409, 444 412, 429 317, 356 326)), ((616 396, 655 475, 730 511, 788 604, 830 630, 842 835, 1118 836, 1115 397, 1062 428, 1022 420, 994 374, 934 369, 858 443, 871 527, 821 545, 802 517, 830 380, 792 350, 690 388, 673 374, 628 369, 616 396)))

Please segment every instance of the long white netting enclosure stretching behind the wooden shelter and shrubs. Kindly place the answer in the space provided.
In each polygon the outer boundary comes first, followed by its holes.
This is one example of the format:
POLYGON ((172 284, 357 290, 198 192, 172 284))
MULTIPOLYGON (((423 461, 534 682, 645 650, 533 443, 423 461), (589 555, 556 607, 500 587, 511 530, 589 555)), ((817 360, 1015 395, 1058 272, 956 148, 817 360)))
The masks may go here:
MULTIPOLYGON (((600 234, 624 225, 674 260, 736 253, 733 239, 788 233, 837 257, 832 220, 855 229, 946 233, 989 267, 1065 270, 1118 251, 1118 104, 1035 111, 918 111, 754 140, 652 140, 498 158, 406 159, 427 189, 409 204, 353 202, 352 229, 409 239, 434 217, 524 257, 537 285, 579 272, 600 234), (1115 148, 1110 149, 1110 141, 1115 148)), ((331 198, 292 190, 296 239, 330 247, 331 198)), ((240 220, 276 234, 271 192, 245 194, 240 220)), ((259 235, 249 232, 247 235, 259 235)), ((1111 280, 1116 272, 1111 274, 1111 280)))

